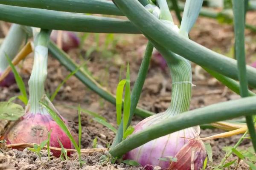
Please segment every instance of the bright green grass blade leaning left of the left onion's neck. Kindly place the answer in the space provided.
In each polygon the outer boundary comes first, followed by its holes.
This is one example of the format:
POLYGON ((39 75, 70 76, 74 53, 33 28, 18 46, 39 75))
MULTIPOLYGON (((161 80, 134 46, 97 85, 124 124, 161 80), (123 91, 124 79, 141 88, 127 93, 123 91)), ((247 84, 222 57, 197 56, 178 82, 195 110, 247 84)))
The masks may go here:
MULTIPOLYGON (((20 93, 21 93, 22 96, 23 96, 23 97, 21 98, 21 101, 22 101, 25 105, 27 105, 27 103, 28 103, 28 97, 27 97, 27 94, 26 94, 26 87, 25 87, 25 84, 24 84, 22 78, 20 77, 20 75, 18 74, 18 72, 17 72, 15 66, 12 64, 11 59, 10 59, 7 55, 6 55, 6 59, 7 59, 7 61, 9 62, 9 65, 10 65, 11 68, 12 68, 12 72, 13 72, 13 74, 14 74, 14 77, 15 77, 15 80, 16 80, 16 82, 17 82, 17 85, 18 85, 18 87, 19 87, 19 89, 20 89, 20 93)), ((20 97, 19 97, 19 99, 20 99, 20 97)))

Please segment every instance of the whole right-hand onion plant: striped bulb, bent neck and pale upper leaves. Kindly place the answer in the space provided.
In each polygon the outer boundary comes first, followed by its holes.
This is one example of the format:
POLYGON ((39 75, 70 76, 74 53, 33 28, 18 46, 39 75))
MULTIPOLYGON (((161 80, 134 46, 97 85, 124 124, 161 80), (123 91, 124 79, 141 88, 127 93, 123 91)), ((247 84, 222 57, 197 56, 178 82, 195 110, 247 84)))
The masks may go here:
MULTIPOLYGON (((198 17, 202 2, 202 0, 186 0, 183 20, 179 29, 173 23, 166 0, 157 0, 157 5, 160 7, 160 19, 177 34, 188 37, 188 32, 198 17)), ((172 119, 173 116, 189 111, 193 86, 190 62, 177 54, 166 52, 166 49, 158 46, 157 43, 153 42, 153 44, 166 59, 170 69, 172 101, 169 108, 163 113, 158 113, 139 122, 134 128, 133 134, 140 133, 148 127, 163 122, 163 120, 172 119)), ((179 130, 129 151, 123 156, 123 159, 135 160, 142 164, 145 169, 153 169, 154 166, 159 166, 162 169, 190 170, 191 164, 193 164, 194 169, 199 170, 206 157, 203 142, 192 140, 199 138, 199 134, 199 126, 179 130), (177 161, 172 161, 170 157, 176 157, 177 161)))

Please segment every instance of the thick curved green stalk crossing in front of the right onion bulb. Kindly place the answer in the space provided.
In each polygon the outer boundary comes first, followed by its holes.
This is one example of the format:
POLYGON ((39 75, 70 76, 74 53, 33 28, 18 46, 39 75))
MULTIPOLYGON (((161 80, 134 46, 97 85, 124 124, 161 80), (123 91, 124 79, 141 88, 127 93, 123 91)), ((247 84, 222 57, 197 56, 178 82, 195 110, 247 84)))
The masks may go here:
POLYGON ((165 136, 188 127, 232 119, 239 116, 251 116, 256 112, 256 96, 246 97, 228 102, 221 102, 204 108, 187 111, 172 116, 162 122, 146 128, 110 149, 113 157, 119 157, 153 139, 165 136))

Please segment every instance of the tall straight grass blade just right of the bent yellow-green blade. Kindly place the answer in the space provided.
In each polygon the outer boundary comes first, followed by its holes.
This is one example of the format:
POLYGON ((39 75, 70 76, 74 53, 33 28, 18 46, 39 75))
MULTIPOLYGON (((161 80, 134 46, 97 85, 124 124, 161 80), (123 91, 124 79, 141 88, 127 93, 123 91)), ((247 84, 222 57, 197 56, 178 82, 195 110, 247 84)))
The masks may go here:
POLYGON ((127 125, 130 117, 130 109, 131 109, 131 95, 130 95, 130 68, 129 63, 127 64, 126 71, 126 83, 125 83, 125 102, 124 102, 124 113, 123 113, 123 134, 125 134, 125 130, 127 129, 127 125))

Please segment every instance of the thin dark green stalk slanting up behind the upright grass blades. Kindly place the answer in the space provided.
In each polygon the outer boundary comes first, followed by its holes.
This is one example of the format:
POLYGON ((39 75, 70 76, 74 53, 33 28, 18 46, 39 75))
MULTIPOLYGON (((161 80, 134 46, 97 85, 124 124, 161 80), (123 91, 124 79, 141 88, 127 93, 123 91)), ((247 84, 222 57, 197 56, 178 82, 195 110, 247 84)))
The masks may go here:
MULTIPOLYGON (((143 88, 143 85, 145 82, 145 78, 146 78, 146 75, 148 72, 148 67, 150 64, 150 59, 152 56, 153 48, 154 48, 154 46, 150 42, 148 42, 143 60, 140 65, 140 70, 138 72, 137 79, 134 83, 134 87, 131 92, 131 109, 130 109, 130 117, 129 117, 127 127, 129 127, 129 125, 131 124, 131 119, 134 116, 135 108, 137 106, 137 103, 139 102, 140 94, 141 94, 141 91, 142 91, 142 88, 143 88)), ((123 119, 121 121, 121 124, 118 127, 118 130, 117 130, 116 136, 113 140, 113 143, 111 145, 111 148, 115 147, 117 144, 122 142, 122 137, 123 137, 123 123, 122 122, 123 122, 123 119)))

